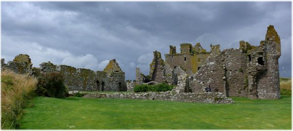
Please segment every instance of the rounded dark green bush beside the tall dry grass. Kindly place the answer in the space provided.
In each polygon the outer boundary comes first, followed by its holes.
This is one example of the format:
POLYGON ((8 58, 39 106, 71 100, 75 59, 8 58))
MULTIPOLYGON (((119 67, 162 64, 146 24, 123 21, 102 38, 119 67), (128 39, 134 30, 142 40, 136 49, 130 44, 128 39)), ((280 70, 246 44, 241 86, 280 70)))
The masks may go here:
POLYGON ((55 98, 68 96, 68 88, 64 84, 64 77, 60 73, 51 72, 42 74, 38 78, 37 94, 55 98))

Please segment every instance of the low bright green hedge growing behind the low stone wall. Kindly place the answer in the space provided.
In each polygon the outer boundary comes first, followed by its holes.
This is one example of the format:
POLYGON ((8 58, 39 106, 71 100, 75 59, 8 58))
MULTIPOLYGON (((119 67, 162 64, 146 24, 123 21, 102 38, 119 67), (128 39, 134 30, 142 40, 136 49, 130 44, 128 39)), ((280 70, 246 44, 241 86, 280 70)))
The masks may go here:
POLYGON ((138 93, 138 92, 166 92, 166 91, 171 91, 173 88, 174 88, 174 86, 170 86, 166 83, 160 83, 155 86, 142 84, 142 85, 135 85, 133 91, 135 93, 138 93))

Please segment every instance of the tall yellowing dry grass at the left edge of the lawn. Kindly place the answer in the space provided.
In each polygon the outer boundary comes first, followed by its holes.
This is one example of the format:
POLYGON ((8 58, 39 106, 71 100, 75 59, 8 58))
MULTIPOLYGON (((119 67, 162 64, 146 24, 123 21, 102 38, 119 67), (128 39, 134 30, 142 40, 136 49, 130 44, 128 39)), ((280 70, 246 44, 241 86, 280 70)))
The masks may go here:
POLYGON ((35 96, 38 81, 28 75, 1 72, 1 129, 17 129, 23 108, 35 96))

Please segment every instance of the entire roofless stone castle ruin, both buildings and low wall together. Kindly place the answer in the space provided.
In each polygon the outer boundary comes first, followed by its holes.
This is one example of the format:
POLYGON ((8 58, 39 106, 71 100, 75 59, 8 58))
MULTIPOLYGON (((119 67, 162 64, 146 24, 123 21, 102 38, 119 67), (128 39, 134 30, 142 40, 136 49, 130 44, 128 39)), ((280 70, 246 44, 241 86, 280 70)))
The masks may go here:
MULTIPOLYGON (((28 55, 18 55, 13 61, 4 63, 1 69, 38 76, 41 73, 60 72, 65 76, 69 90, 78 91, 132 91, 137 84, 165 82, 176 85, 172 92, 150 94, 119 94, 117 98, 162 99, 208 103, 231 103, 224 96, 242 96, 251 99, 280 98, 278 58, 281 56, 280 37, 270 25, 266 37, 259 46, 246 41, 239 42, 238 49, 220 51, 220 45, 211 45, 207 52, 200 43, 180 44, 180 53, 170 45, 166 61, 158 51, 150 64, 149 77, 136 68, 136 82, 125 82, 125 73, 115 59, 110 60, 103 71, 76 69, 51 62, 32 67, 28 55), (205 94, 210 86, 212 93, 205 94), (215 99, 207 97, 213 95, 215 99), (140 97, 141 96, 141 97, 140 97)), ((100 94, 98 97, 101 97, 100 94)), ((106 95, 105 97, 112 95, 106 95)), ((103 94, 104 97, 104 94, 103 94)))

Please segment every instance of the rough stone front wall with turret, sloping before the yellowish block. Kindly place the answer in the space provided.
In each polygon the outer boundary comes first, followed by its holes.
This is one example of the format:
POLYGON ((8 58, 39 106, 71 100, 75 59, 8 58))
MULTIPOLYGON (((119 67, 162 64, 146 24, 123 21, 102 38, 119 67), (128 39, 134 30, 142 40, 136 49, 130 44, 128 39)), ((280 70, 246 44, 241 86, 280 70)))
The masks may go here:
POLYGON ((259 46, 240 41, 239 49, 220 51, 212 47, 210 56, 202 68, 189 79, 193 93, 202 92, 210 85, 212 92, 226 96, 241 96, 251 99, 280 98, 278 58, 279 36, 268 27, 266 39, 259 46))

